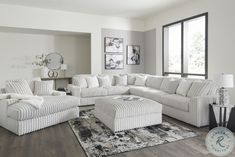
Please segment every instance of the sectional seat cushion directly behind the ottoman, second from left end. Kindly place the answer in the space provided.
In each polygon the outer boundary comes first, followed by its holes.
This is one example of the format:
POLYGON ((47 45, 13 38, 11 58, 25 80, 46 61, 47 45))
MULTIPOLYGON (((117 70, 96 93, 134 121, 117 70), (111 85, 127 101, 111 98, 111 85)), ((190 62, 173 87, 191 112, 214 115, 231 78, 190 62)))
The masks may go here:
POLYGON ((110 86, 105 88, 107 89, 108 95, 129 94, 129 87, 127 86, 110 86))

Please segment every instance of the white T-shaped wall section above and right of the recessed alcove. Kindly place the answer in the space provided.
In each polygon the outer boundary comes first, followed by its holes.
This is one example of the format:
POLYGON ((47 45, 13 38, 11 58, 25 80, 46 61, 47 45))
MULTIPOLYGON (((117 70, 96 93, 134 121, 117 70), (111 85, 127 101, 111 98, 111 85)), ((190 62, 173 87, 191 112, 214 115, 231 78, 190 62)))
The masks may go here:
POLYGON ((101 28, 144 29, 144 21, 23 6, 0 5, 0 27, 91 33, 91 72, 102 72, 101 28))

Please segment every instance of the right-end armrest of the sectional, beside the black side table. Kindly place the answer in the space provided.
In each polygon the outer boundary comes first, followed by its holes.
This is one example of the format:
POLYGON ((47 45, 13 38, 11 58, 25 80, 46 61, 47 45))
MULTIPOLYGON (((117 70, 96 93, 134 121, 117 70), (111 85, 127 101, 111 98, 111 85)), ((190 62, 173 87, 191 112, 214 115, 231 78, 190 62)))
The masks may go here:
POLYGON ((213 98, 213 96, 200 96, 190 99, 189 111, 192 116, 196 116, 196 126, 202 127, 209 124, 209 104, 213 103, 213 98))

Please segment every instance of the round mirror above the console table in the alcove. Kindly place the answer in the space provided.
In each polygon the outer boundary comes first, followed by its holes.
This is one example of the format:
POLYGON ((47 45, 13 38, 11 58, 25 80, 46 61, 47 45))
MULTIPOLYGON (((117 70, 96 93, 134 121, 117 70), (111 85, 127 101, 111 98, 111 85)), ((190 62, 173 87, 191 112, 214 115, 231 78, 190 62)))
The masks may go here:
POLYGON ((45 58, 46 66, 50 70, 58 70, 63 64, 63 57, 59 53, 50 53, 45 58))

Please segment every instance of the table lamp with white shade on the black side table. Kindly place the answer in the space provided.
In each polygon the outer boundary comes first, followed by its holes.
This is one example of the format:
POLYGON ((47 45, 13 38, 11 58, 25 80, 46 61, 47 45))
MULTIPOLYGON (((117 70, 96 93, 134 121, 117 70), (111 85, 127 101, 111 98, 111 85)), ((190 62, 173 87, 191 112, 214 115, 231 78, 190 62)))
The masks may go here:
POLYGON ((229 105, 228 88, 233 88, 233 74, 219 74, 215 78, 219 87, 219 105, 229 105))

